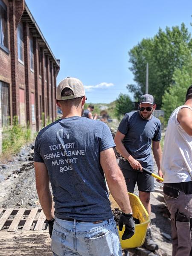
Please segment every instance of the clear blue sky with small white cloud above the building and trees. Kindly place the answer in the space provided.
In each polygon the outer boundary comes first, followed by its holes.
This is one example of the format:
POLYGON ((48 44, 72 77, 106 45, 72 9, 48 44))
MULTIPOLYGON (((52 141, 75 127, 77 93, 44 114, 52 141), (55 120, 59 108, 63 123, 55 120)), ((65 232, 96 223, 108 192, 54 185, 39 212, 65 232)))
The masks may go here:
POLYGON ((87 102, 109 103, 134 83, 128 51, 184 22, 192 32, 192 0, 26 0, 61 61, 57 81, 79 78, 87 102))

